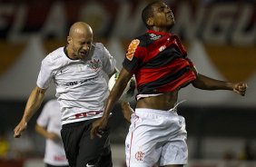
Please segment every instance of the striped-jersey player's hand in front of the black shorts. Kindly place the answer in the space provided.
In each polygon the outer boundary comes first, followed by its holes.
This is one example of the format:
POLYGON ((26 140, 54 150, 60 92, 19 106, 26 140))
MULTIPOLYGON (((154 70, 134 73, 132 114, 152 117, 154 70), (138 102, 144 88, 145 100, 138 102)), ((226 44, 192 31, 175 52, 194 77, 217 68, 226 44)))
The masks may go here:
POLYGON ((105 128, 106 124, 107 119, 104 119, 103 117, 92 123, 91 139, 94 139, 94 136, 102 138, 103 129, 105 128))

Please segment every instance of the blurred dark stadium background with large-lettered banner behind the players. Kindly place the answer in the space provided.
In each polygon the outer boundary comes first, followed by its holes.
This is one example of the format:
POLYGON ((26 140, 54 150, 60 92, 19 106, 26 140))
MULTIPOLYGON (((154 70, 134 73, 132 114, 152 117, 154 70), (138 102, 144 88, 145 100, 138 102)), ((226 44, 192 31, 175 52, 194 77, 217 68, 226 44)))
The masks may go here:
MULTIPOLYGON (((0 0, 0 167, 44 166, 44 139, 34 133, 40 111, 21 139, 13 129, 35 85, 41 60, 65 44, 68 27, 84 21, 94 29, 121 68, 126 47, 145 31, 141 10, 149 0, 0 0)), ((255 0, 168 0, 189 57, 200 73, 246 81, 247 95, 182 90, 179 113, 186 118, 189 167, 256 166, 255 0)), ((54 85, 45 101, 54 98, 54 85)), ((134 106, 134 102, 132 103, 134 106)), ((113 162, 124 166, 125 123, 116 104, 112 124, 113 162)))

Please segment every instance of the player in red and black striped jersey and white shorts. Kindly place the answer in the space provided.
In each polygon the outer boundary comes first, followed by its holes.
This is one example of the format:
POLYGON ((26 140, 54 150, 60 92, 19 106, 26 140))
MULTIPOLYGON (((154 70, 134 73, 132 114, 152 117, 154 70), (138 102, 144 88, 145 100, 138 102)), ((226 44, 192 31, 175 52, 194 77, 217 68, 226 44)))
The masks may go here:
POLYGON ((148 31, 133 39, 123 69, 105 104, 103 117, 93 123, 92 138, 107 123, 126 83, 135 75, 138 94, 125 141, 127 167, 180 167, 187 163, 185 120, 176 111, 179 90, 192 83, 203 90, 230 90, 244 95, 246 83, 229 83, 199 74, 177 35, 172 10, 163 2, 143 9, 148 31))

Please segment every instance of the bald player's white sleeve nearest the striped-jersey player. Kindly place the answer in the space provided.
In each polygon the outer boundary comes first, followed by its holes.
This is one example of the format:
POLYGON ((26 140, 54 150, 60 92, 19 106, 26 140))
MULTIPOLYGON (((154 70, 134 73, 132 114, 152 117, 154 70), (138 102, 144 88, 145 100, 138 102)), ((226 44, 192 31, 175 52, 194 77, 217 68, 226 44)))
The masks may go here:
POLYGON ((113 74, 116 61, 109 51, 103 46, 103 71, 106 74, 113 74))

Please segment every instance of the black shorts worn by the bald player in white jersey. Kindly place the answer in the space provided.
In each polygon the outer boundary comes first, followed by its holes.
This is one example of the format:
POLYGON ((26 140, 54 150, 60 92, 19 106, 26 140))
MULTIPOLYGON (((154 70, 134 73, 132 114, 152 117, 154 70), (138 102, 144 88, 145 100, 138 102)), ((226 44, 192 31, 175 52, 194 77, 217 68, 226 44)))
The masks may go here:
POLYGON ((67 123, 61 130, 66 158, 71 167, 112 167, 109 127, 103 130, 102 138, 90 138, 94 120, 67 123))

